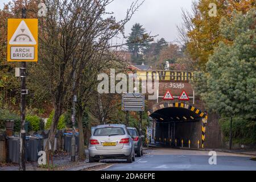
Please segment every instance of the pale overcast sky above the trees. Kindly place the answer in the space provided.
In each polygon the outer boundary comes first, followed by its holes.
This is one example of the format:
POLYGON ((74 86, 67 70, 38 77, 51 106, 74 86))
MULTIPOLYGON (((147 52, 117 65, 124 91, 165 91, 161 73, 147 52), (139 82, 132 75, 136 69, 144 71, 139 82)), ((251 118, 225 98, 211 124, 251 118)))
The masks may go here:
MULTIPOLYGON (((1 9, 6 2, 9 0, 0 0, 1 9)), ((113 11, 117 19, 122 19, 132 2, 133 0, 115 0, 109 5, 108 11, 113 11)), ((159 35, 155 40, 163 37, 167 42, 172 42, 177 39, 176 26, 182 22, 181 7, 190 10, 191 4, 192 0, 146 0, 126 24, 125 34, 129 35, 133 24, 140 23, 151 35, 159 35)), ((113 44, 117 41, 122 43, 124 40, 115 38, 113 44)))

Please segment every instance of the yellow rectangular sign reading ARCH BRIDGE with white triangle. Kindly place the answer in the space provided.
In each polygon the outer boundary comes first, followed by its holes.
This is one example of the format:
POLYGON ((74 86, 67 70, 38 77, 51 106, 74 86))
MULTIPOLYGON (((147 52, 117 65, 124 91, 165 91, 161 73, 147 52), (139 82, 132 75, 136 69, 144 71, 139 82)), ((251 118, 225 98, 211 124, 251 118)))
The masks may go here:
POLYGON ((38 19, 8 19, 7 61, 38 61, 38 19))

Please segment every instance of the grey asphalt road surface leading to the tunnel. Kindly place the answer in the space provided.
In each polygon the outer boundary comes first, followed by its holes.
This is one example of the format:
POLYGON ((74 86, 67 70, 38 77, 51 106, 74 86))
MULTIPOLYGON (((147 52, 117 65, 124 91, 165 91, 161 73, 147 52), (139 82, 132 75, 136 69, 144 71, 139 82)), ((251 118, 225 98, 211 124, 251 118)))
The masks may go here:
POLYGON ((102 171, 182 171, 182 170, 208 170, 208 171, 256 171, 256 161, 250 160, 249 155, 217 152, 217 164, 210 165, 209 151, 179 150, 174 148, 155 148, 145 151, 141 158, 133 163, 125 160, 102 160, 109 167, 102 171))

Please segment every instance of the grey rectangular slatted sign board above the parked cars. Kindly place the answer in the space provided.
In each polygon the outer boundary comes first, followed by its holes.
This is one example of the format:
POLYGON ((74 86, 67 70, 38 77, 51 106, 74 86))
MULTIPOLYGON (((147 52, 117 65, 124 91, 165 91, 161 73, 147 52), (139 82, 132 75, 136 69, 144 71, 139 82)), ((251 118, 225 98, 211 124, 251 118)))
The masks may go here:
POLYGON ((126 93, 122 95, 123 111, 144 111, 145 96, 142 93, 126 93))

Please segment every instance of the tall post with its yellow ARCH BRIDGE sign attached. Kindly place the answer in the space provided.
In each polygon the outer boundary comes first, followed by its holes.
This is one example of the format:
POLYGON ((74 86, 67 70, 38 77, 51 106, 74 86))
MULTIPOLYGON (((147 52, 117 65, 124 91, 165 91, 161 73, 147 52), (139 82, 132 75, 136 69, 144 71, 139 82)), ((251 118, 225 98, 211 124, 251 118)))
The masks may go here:
POLYGON ((38 19, 26 18, 27 10, 23 8, 22 18, 8 19, 7 26, 7 61, 21 62, 20 68, 15 68, 15 77, 20 77, 20 171, 26 170, 26 62, 38 61, 38 19))

